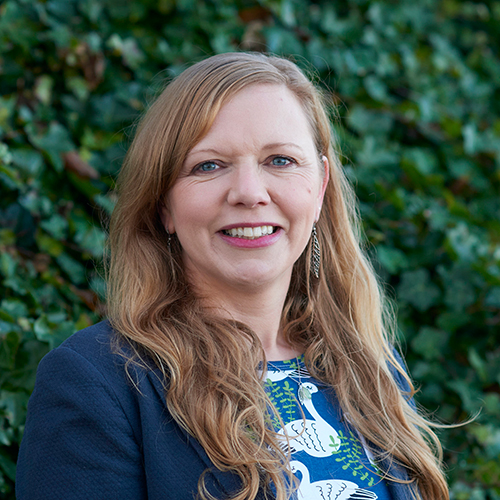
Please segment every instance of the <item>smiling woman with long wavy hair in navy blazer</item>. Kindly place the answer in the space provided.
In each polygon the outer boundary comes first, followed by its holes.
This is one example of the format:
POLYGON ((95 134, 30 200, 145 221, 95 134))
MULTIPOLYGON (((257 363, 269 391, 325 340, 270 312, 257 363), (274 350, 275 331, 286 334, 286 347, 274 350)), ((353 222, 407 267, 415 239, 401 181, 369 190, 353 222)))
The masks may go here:
POLYGON ((332 144, 289 61, 167 86, 118 182, 109 322, 40 365, 19 500, 448 498, 332 144))

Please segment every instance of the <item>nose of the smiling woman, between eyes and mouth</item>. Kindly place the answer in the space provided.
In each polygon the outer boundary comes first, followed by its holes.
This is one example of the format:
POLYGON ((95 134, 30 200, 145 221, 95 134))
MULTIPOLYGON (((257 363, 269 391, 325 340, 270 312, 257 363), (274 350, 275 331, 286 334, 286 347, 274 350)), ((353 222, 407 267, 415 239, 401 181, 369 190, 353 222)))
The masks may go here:
POLYGON ((227 196, 230 205, 253 208, 271 201, 265 173, 258 165, 240 165, 234 169, 227 196))

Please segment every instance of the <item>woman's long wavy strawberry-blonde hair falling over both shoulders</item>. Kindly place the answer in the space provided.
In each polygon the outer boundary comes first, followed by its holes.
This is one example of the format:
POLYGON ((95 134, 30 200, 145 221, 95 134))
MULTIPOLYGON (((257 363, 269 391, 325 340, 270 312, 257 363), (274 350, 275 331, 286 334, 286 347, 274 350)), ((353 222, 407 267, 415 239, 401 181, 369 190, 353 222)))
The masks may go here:
MULTIPOLYGON (((408 404, 413 386, 394 356, 393 315, 361 249, 355 196, 338 160, 325 99, 294 63, 248 53, 210 57, 176 77, 144 115, 118 179, 110 223, 111 324, 132 346, 130 362, 146 355, 163 372, 177 423, 215 467, 239 475, 235 499, 254 499, 271 483, 278 500, 289 497, 290 457, 269 425, 260 341, 244 324, 203 308, 183 272, 180 244, 175 236, 170 241, 160 219, 188 152, 221 106, 255 84, 282 85, 295 94, 318 158, 326 156, 331 167, 317 222, 320 278, 311 275, 308 245, 294 265, 282 312, 285 338, 304 351, 310 373, 334 388, 376 458, 406 468, 415 499, 448 499, 433 424, 408 404), (395 372, 406 379, 407 392, 395 372)), ((397 481, 388 470, 383 474, 397 481)), ((204 477, 198 493, 211 498, 204 477)))

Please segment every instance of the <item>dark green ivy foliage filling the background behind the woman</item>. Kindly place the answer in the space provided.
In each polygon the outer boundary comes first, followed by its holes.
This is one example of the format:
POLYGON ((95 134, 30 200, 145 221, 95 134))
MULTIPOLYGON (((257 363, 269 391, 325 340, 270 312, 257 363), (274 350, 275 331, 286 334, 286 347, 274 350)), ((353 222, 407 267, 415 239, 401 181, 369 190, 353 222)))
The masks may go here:
POLYGON ((500 1, 0 4, 0 496, 37 363, 103 312, 100 221, 165 78, 233 50, 334 92, 343 161, 452 497, 500 499, 500 1))

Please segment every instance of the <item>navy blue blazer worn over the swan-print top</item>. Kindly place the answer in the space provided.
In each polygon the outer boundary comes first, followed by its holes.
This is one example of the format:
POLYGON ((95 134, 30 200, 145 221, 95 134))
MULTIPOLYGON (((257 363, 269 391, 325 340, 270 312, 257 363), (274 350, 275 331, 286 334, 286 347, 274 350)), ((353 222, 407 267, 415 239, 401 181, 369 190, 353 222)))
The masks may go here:
MULTIPOLYGON (((154 368, 133 368, 104 321, 75 333, 40 363, 17 464, 17 500, 192 500, 206 470, 220 499, 239 489, 172 419, 154 368)), ((406 477, 401 469, 391 469, 406 477)), ((390 483, 394 500, 408 487, 390 483)), ((263 499, 263 494, 259 499, 263 499)))

